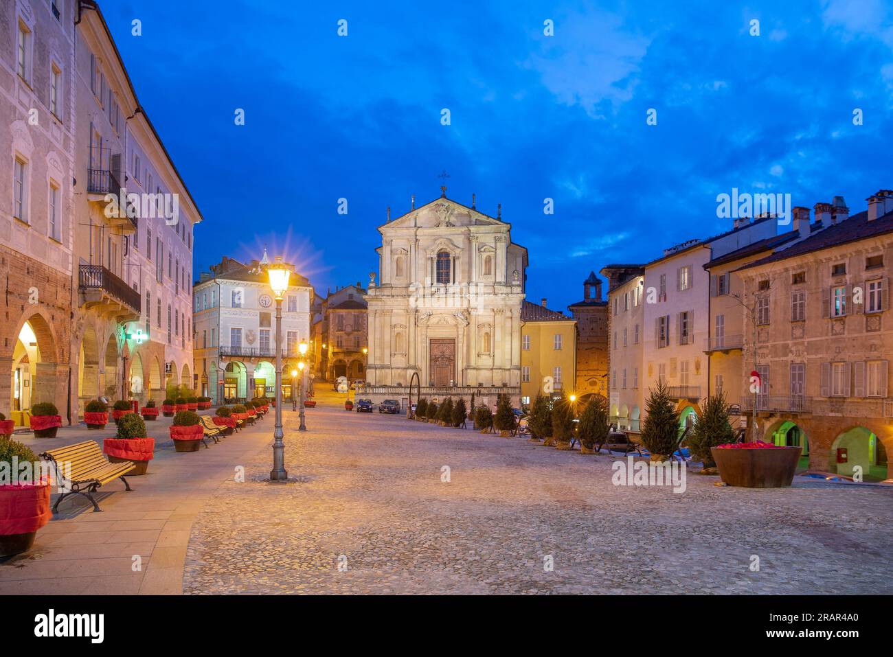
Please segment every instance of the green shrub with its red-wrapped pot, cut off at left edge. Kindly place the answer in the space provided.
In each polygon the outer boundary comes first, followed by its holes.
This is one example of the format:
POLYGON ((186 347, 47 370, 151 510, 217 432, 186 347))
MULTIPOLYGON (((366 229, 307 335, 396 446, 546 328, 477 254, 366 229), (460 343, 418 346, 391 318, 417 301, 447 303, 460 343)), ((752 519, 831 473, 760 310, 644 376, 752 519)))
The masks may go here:
POLYGON ((40 471, 37 454, 17 440, 4 438, 0 439, 0 463, 7 472, 18 470, 14 480, 0 486, 0 557, 8 557, 31 549, 38 529, 50 521, 53 511, 49 481, 34 476, 40 471), (23 463, 34 464, 30 473, 20 474, 23 463))

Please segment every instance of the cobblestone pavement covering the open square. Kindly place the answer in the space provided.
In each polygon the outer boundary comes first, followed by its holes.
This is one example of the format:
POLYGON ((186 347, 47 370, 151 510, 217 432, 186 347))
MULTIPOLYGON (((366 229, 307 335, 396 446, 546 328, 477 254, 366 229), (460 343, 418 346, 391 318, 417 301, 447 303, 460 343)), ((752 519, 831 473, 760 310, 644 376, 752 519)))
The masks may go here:
POLYGON ((614 487, 607 454, 332 404, 302 435, 286 415, 293 481, 263 482, 267 447, 207 500, 184 593, 893 593, 889 487, 614 487))

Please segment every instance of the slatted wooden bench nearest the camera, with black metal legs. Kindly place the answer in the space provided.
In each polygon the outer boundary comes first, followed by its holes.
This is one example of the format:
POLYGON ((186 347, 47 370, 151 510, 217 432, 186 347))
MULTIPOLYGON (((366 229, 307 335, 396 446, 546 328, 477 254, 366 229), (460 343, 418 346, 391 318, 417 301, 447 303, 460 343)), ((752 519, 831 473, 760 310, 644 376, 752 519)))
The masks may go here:
POLYGON ((56 472, 56 480, 63 488, 53 505, 53 512, 59 507, 59 503, 68 495, 84 495, 93 503, 93 511, 102 511, 96 503, 93 494, 96 488, 107 484, 113 479, 121 479, 127 490, 132 490, 124 475, 133 469, 132 462, 110 463, 105 459, 99 443, 87 440, 83 443, 49 449, 40 456, 53 464, 56 472))

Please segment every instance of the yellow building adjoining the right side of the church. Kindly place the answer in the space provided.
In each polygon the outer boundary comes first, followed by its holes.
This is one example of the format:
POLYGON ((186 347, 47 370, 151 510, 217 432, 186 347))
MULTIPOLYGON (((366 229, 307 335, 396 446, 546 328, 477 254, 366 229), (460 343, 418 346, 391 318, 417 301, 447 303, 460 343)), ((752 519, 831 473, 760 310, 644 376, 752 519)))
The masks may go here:
POLYGON ((521 402, 537 393, 573 392, 577 378, 577 321, 542 304, 521 308, 521 402))

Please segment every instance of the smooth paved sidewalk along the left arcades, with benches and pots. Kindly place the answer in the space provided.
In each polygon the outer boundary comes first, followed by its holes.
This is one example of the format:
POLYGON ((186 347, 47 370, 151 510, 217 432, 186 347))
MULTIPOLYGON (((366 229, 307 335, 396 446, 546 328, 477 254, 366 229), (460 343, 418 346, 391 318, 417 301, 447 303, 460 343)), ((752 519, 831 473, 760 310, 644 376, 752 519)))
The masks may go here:
MULTIPOLYGON (((283 418, 288 414, 290 407, 283 418)), ((155 438, 154 460, 146 475, 128 478, 132 492, 125 492, 120 479, 101 487, 96 495, 100 513, 82 495, 66 498, 38 531, 29 553, 0 560, 0 594, 181 594, 193 520, 238 465, 255 461, 271 444, 273 423, 271 408, 264 420, 220 444, 178 453, 168 435, 171 419, 146 422, 155 438)), ((40 453, 83 440, 102 445, 114 432, 113 423, 104 431, 80 425, 60 428, 56 438, 15 439, 40 453)), ((255 474, 248 471, 246 477, 255 474)))

